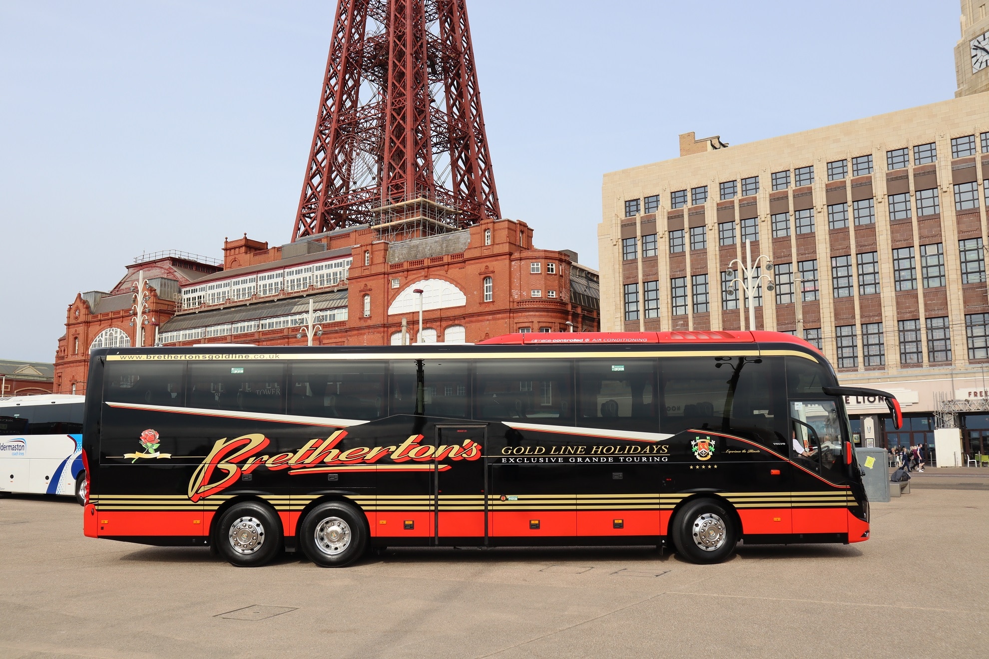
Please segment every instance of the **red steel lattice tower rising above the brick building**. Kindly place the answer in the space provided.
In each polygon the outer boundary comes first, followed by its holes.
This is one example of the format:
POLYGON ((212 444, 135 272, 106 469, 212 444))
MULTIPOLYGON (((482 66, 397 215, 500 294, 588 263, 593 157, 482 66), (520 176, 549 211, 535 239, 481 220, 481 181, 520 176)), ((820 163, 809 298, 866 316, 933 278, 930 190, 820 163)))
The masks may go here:
POLYGON ((466 0, 340 0, 292 239, 499 217, 466 0))

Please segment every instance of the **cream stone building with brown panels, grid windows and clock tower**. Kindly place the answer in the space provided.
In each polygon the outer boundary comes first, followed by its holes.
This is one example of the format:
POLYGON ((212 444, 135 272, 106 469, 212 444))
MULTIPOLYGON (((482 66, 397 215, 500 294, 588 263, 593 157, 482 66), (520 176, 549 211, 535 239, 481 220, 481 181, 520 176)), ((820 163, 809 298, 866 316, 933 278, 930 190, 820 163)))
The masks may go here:
POLYGON ((756 329, 903 404, 896 432, 849 401, 863 445, 934 446, 937 426, 957 429, 943 465, 989 455, 989 18, 961 6, 954 99, 748 144, 685 133, 680 157, 605 174, 602 331, 750 329, 751 248, 756 329))

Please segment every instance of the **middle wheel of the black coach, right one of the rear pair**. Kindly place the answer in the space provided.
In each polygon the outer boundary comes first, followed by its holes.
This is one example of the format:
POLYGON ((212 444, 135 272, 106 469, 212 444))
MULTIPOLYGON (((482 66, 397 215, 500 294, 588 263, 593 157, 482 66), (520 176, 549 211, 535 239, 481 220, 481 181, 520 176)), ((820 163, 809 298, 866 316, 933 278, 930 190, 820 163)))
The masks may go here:
POLYGON ((364 555, 368 543, 364 514, 341 501, 313 509, 299 530, 299 543, 316 565, 343 567, 364 555))

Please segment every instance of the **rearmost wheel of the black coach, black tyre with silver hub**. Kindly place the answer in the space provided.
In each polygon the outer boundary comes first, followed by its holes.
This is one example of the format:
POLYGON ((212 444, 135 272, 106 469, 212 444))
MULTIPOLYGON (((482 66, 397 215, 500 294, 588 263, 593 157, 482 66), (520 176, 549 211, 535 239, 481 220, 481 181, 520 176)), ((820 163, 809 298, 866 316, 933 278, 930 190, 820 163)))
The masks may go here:
POLYGON ((224 513, 213 539, 231 565, 257 567, 281 550, 282 523, 267 504, 245 501, 224 513))

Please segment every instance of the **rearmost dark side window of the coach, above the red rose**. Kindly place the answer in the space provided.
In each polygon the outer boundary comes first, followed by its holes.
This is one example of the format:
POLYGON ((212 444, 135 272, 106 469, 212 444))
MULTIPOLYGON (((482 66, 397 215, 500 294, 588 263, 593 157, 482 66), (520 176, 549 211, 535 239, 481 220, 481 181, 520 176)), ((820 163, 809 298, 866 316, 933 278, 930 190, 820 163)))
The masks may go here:
POLYGON ((182 365, 107 362, 103 371, 103 399, 115 403, 182 407, 182 365))

